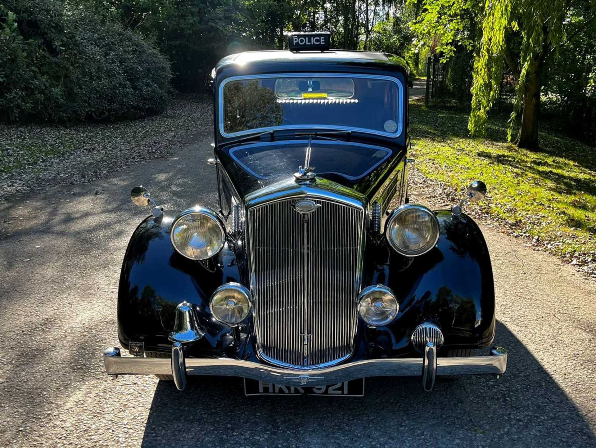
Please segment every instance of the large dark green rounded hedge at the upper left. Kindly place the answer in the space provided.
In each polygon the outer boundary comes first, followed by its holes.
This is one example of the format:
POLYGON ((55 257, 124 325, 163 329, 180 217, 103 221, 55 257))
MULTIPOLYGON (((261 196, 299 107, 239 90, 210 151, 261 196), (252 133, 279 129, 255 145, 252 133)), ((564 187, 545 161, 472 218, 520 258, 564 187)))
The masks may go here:
POLYGON ((163 111, 167 59, 135 32, 54 0, 0 4, 0 119, 120 120, 163 111))

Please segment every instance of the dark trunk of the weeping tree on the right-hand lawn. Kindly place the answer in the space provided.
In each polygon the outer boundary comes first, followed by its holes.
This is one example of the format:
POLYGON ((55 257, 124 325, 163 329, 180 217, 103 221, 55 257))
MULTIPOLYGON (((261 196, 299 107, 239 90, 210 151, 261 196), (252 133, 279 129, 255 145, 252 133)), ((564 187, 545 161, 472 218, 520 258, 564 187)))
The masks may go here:
POLYGON ((517 134, 519 148, 538 150, 538 112, 540 110, 541 61, 530 63, 523 95, 522 125, 517 134))

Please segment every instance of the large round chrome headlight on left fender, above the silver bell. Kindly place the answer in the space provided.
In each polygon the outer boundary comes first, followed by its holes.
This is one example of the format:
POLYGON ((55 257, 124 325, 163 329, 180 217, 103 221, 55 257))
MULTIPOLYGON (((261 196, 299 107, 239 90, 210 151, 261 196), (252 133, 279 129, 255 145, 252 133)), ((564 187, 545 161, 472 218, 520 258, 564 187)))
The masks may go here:
POLYGON ((224 220, 213 210, 194 207, 184 210, 172 223, 172 245, 191 260, 206 260, 225 243, 224 220))

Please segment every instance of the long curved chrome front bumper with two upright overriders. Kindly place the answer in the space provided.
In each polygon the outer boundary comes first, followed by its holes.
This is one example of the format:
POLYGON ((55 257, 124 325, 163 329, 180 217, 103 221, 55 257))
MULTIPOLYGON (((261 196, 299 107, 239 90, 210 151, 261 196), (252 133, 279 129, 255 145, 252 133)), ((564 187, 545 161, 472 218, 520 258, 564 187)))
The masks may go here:
POLYGON ((425 390, 431 390, 437 375, 501 375, 507 369, 507 350, 493 347, 490 356, 437 357, 428 343, 420 358, 382 358, 349 362, 325 369, 295 371, 252 361, 229 358, 185 358, 182 346, 172 344, 172 357, 121 356, 120 349, 104 351, 108 375, 172 375, 180 390, 187 375, 246 377, 279 385, 326 385, 364 377, 421 376, 425 390))

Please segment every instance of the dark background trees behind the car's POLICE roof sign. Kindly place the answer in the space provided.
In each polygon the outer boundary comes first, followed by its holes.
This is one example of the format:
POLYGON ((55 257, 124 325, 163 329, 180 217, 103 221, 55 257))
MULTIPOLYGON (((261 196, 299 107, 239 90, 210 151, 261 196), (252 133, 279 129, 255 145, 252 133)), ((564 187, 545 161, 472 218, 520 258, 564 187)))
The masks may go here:
POLYGON ((331 48, 405 52, 407 11, 395 0, 95 0, 99 14, 156 42, 172 61, 173 86, 201 91, 225 55, 283 49, 285 32, 328 31, 331 48))

